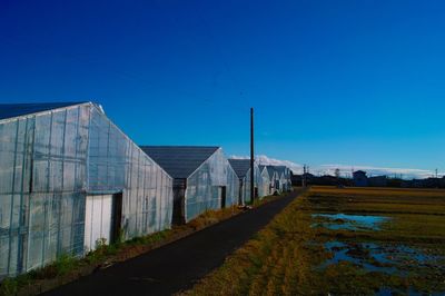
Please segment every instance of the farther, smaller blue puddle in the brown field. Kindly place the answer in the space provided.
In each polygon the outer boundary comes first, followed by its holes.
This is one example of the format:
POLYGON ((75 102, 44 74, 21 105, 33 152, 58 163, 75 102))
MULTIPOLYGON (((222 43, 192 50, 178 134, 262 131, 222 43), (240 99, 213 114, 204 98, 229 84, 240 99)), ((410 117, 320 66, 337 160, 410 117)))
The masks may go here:
POLYGON ((318 221, 313 227, 332 230, 379 230, 380 225, 390 218, 372 215, 313 214, 318 221))

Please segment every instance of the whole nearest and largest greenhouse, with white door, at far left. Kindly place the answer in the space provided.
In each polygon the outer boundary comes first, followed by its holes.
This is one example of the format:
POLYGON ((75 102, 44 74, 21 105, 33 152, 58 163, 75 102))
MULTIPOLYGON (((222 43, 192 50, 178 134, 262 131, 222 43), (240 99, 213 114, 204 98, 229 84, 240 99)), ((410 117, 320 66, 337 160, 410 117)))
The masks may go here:
POLYGON ((0 278, 170 227, 172 178, 100 106, 0 105, 0 278))

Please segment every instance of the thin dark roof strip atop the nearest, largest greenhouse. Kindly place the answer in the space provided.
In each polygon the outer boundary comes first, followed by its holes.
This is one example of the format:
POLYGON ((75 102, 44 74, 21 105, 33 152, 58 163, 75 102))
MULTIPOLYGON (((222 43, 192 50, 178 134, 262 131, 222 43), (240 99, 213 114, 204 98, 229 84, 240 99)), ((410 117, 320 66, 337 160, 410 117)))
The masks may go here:
POLYGON ((83 102, 32 102, 32 103, 0 103, 0 120, 49 111, 52 109, 80 105, 83 102))

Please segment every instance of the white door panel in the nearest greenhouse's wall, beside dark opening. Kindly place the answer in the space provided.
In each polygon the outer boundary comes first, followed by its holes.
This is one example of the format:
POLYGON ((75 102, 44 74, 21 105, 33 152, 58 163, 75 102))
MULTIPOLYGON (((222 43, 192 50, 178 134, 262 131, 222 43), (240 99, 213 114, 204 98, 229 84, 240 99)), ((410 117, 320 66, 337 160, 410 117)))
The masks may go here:
POLYGON ((112 195, 87 196, 85 215, 85 250, 95 250, 100 239, 111 238, 112 195))

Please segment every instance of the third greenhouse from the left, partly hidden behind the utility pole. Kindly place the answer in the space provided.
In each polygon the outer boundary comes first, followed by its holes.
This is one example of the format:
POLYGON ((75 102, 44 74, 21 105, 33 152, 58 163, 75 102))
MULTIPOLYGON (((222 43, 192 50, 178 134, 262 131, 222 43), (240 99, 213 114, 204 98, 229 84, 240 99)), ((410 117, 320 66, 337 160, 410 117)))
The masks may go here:
MULTIPOLYGON (((230 166, 239 178, 239 204, 251 203, 250 198, 250 160, 249 159, 229 159, 230 166)), ((258 165, 254 164, 254 188, 255 195, 259 198, 266 196, 264 193, 263 177, 258 165)))

